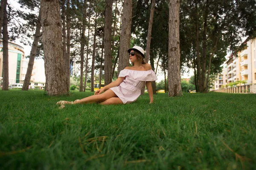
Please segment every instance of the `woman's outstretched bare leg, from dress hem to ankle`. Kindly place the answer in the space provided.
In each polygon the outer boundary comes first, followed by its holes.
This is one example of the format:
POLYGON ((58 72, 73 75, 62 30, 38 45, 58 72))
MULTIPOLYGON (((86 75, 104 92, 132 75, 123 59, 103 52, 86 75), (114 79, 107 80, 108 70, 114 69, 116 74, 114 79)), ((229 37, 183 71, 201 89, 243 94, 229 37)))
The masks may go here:
POLYGON ((108 89, 107 91, 105 91, 102 94, 96 94, 96 95, 93 95, 93 96, 89 96, 89 97, 86 97, 84 99, 81 99, 81 100, 73 102, 73 103, 74 104, 78 104, 78 103, 104 102, 105 100, 110 99, 112 97, 117 97, 117 96, 116 96, 116 94, 112 90, 108 89))

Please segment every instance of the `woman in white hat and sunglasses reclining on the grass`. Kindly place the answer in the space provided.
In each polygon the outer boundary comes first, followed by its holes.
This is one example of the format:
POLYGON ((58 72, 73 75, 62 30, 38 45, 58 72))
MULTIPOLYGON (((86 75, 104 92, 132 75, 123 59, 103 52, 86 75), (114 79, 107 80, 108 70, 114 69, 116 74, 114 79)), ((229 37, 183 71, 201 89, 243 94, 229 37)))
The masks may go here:
POLYGON ((95 91, 93 96, 80 100, 77 99, 74 102, 59 101, 57 104, 100 103, 101 105, 111 105, 131 103, 135 102, 140 96, 140 91, 145 82, 150 99, 149 103, 153 103, 151 81, 156 80, 157 76, 151 70, 151 65, 144 62, 143 48, 135 45, 133 48, 128 49, 128 53, 130 61, 134 66, 126 67, 120 71, 116 81, 95 91))

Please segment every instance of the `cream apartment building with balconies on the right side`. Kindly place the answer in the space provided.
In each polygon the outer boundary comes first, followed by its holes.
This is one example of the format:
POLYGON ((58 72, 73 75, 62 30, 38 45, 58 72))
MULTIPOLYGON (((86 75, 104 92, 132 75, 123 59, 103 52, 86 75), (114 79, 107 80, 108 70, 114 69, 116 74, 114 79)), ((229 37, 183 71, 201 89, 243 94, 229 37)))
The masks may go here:
POLYGON ((251 88, 256 87, 256 38, 246 40, 244 44, 245 48, 238 52, 238 57, 230 55, 225 62, 223 71, 217 76, 215 81, 214 90, 221 88, 221 85, 227 85, 230 82, 236 82, 238 80, 246 80, 248 85, 252 85, 251 88), (221 81, 223 78, 223 81, 221 81), (226 78, 226 80, 224 80, 226 78), (221 84, 223 82, 223 84, 221 84))

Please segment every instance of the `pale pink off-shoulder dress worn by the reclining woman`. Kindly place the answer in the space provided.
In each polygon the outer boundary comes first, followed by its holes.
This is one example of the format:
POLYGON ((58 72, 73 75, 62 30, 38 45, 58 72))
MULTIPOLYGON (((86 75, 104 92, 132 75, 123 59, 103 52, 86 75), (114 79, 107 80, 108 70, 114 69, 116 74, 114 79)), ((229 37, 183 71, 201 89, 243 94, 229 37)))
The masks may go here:
POLYGON ((140 91, 147 81, 157 80, 157 75, 153 70, 137 71, 124 69, 120 71, 118 77, 125 77, 123 82, 116 87, 110 88, 123 104, 135 102, 140 96, 140 91))

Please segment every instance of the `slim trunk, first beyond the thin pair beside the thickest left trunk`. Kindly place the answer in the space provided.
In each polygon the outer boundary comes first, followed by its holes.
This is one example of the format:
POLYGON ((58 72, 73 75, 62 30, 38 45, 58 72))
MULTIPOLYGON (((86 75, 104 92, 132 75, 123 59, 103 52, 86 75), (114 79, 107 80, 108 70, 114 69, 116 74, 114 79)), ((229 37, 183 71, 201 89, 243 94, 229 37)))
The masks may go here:
POLYGON ((84 0, 84 10, 83 10, 83 18, 82 18, 82 34, 81 34, 81 65, 80 65, 80 87, 79 92, 83 91, 83 77, 84 77, 84 45, 86 43, 85 40, 85 23, 86 23, 86 9, 87 9, 87 0, 84 0))

